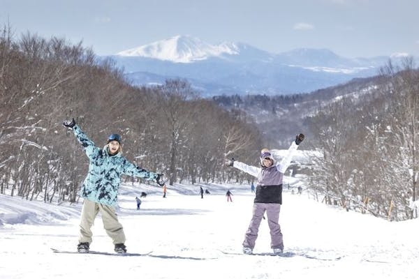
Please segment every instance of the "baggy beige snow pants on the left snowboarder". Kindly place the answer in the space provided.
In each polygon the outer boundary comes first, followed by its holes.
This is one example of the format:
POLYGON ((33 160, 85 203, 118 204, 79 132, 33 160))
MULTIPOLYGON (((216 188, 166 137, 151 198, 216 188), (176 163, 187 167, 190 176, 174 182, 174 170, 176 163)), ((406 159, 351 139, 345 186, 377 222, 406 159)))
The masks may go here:
POLYGON ((112 239, 114 244, 125 243, 124 228, 118 222, 115 207, 105 204, 92 202, 89 199, 84 199, 82 208, 82 220, 80 221, 80 236, 79 243, 91 243, 91 226, 94 224, 94 219, 101 212, 103 228, 112 239))

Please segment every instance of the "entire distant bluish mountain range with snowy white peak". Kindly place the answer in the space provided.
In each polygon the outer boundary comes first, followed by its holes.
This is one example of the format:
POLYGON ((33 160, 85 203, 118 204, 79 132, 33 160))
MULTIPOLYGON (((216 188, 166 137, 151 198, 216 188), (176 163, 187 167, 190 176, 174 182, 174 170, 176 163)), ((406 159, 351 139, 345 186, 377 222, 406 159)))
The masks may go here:
MULTIPOLYGON (((400 56, 394 56, 399 58, 400 56)), ((378 73, 390 57, 348 59, 330 50, 272 54, 244 43, 205 43, 175 36, 112 56, 135 85, 189 80, 202 96, 301 93, 378 73)))

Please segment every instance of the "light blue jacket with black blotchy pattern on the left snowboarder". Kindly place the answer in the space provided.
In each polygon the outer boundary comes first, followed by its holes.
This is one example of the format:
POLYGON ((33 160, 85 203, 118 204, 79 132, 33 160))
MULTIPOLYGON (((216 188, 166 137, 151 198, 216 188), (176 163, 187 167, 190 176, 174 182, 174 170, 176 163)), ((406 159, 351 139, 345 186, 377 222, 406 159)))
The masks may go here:
POLYGON ((75 125, 73 132, 89 157, 89 173, 80 190, 80 195, 84 199, 115 206, 122 174, 138 176, 147 180, 157 178, 157 174, 135 166, 121 153, 110 156, 107 147, 99 149, 79 126, 75 125))

